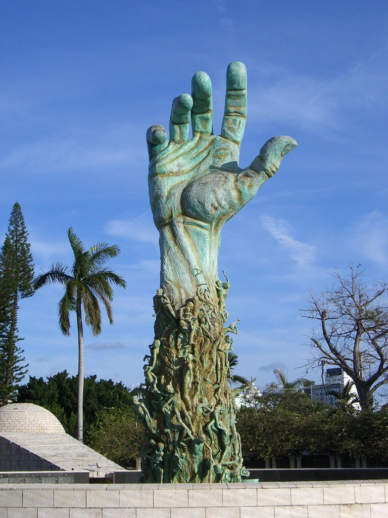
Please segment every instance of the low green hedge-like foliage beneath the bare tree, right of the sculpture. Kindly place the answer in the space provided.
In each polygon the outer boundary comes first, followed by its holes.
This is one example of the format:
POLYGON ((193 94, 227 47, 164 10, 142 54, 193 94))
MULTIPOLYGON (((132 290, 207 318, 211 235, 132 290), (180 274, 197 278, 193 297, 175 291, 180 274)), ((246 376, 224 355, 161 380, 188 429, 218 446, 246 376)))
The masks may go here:
POLYGON ((254 405, 237 413, 243 456, 268 459, 303 452, 388 458, 388 411, 352 411, 316 404, 298 391, 270 383, 254 405))

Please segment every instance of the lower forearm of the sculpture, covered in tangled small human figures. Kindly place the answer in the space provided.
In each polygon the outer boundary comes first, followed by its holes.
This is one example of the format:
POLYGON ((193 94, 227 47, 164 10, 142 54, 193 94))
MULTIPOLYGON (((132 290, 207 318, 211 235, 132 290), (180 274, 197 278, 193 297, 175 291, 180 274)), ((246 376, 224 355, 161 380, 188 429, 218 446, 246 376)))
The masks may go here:
MULTIPOLYGON (((241 441, 228 351, 237 333, 206 292, 176 313, 162 290, 154 299, 155 340, 135 411, 145 425, 144 482, 241 482, 241 441)), ((237 389, 238 391, 238 389, 237 389)))

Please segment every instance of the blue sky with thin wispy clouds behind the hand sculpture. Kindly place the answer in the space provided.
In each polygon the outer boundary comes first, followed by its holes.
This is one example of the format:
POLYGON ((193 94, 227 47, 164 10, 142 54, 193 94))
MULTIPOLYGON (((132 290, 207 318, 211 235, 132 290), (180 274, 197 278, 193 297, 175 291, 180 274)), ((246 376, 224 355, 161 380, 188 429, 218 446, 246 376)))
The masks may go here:
MULTIPOLYGON (((368 279, 387 279, 387 26, 378 0, 0 0, 0 238, 18 202, 37 272, 71 263, 70 226, 86 246, 122 250, 111 267, 128 287, 115 291, 113 326, 86 333, 87 375, 142 381, 159 287, 145 132, 168 126, 198 70, 212 79, 219 133, 226 68, 247 66, 241 167, 272 136, 299 143, 223 228, 238 373, 259 386, 276 367, 304 375, 300 309, 335 268, 361 263, 368 279)), ((61 296, 52 286, 21 301, 33 376, 77 372, 75 319, 70 337, 58 328, 61 296)))

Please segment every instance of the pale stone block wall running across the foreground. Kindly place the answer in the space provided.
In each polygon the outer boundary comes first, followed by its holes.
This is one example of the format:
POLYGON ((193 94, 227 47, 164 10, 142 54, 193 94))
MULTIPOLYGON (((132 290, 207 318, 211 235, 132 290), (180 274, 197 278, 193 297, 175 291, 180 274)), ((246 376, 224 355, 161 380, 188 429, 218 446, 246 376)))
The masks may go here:
POLYGON ((0 518, 386 518, 388 480, 0 484, 0 518))

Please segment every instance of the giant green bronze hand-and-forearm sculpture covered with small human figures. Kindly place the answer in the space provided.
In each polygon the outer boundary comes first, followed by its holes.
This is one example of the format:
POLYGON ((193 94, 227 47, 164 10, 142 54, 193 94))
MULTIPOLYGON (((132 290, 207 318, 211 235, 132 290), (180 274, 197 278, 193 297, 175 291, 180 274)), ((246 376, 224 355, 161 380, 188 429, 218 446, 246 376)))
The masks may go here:
POLYGON ((213 135, 212 84, 204 72, 193 76, 191 96, 173 100, 170 140, 162 126, 147 131, 161 269, 145 391, 134 398, 145 425, 145 482, 240 482, 248 475, 235 427, 234 397, 241 389, 228 384, 230 333, 238 331, 236 322, 226 324, 229 280, 218 279, 221 228, 296 142, 274 137, 240 169, 246 113, 246 68, 235 62, 227 70, 220 135, 213 135))

